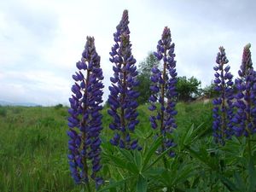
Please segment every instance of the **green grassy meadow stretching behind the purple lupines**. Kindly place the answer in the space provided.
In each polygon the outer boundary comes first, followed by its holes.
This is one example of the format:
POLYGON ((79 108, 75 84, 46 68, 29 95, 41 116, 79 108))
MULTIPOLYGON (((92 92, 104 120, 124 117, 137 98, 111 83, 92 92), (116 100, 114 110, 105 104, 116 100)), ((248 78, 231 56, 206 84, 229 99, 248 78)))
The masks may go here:
MULTIPOLYGON (((211 130, 212 104, 178 103, 177 125, 184 129, 204 123, 211 130)), ((148 106, 138 108, 137 130, 150 130, 148 106)), ((102 137, 111 121, 102 111, 102 137)), ((67 163, 67 108, 0 108, 0 191, 81 191, 67 163)))

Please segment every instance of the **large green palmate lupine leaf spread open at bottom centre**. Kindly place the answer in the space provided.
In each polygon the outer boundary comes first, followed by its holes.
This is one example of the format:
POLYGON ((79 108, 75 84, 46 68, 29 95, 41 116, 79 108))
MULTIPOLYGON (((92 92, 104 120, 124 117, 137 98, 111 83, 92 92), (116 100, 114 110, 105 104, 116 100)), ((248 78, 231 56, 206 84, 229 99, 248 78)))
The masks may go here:
MULTIPOLYGON (((129 173, 130 179, 127 180, 127 177, 123 177, 121 180, 113 183, 113 186, 123 186, 125 183, 129 182, 130 185, 133 185, 134 190, 145 190, 148 186, 148 181, 150 178, 156 174, 164 172, 163 167, 155 167, 163 156, 168 154, 172 147, 167 148, 162 154, 158 155, 154 159, 154 152, 156 148, 160 148, 163 137, 158 137, 154 142, 149 146, 143 149, 142 151, 131 151, 125 148, 117 148, 119 153, 113 154, 103 154, 104 159, 108 165, 115 166, 120 169, 121 172, 129 173), (124 182, 125 180, 125 182, 124 182)), ((132 186, 131 186, 132 188, 132 186)), ((105 188, 104 188, 105 189, 105 188)), ((109 189, 108 187, 106 189, 109 189)))

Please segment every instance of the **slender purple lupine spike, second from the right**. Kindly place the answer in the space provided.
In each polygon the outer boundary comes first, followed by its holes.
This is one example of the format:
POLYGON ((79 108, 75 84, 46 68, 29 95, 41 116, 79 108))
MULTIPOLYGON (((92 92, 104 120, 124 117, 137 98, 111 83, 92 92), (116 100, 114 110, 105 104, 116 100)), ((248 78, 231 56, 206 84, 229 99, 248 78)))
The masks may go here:
POLYGON ((232 121, 233 118, 233 75, 229 72, 230 66, 227 65, 228 59, 223 47, 219 48, 216 57, 217 66, 213 67, 216 71, 214 76, 215 90, 220 93, 218 98, 215 98, 212 103, 214 108, 213 112, 213 137, 216 143, 224 144, 224 140, 229 139, 233 135, 232 121))

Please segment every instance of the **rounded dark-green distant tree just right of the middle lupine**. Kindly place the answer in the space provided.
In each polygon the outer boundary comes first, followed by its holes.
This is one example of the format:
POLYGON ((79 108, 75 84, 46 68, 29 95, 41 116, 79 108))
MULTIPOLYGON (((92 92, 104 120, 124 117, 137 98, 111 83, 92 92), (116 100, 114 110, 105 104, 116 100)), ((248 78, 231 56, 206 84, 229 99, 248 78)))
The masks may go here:
POLYGON ((189 102, 196 96, 201 95, 201 81, 195 77, 187 79, 187 77, 177 78, 177 100, 189 102))

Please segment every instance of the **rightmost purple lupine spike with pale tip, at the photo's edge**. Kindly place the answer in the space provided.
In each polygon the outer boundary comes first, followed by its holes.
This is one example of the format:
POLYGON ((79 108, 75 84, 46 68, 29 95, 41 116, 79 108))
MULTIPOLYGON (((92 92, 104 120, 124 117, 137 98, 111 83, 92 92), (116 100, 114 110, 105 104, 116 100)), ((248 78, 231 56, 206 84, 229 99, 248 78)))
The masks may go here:
POLYGON ((235 81, 237 112, 233 122, 238 137, 248 137, 256 132, 256 72, 253 70, 250 47, 251 44, 247 44, 243 49, 239 78, 235 81))

